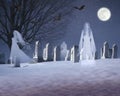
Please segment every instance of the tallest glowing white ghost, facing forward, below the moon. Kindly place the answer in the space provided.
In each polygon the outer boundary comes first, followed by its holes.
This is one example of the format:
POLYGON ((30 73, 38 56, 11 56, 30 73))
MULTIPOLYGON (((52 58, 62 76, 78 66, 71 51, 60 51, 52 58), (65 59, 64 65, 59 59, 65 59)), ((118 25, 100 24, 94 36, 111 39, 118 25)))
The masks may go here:
POLYGON ((96 53, 95 41, 89 23, 85 23, 79 42, 80 60, 94 60, 96 53))

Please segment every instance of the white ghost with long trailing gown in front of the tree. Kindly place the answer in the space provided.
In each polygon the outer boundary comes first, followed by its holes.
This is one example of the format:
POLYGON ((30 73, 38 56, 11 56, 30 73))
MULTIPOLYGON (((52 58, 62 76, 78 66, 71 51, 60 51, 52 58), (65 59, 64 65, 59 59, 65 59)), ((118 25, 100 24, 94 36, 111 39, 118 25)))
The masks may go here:
POLYGON ((15 59, 19 59, 20 62, 30 62, 31 58, 27 56, 18 46, 18 43, 25 45, 25 41, 23 40, 21 34, 18 31, 13 32, 12 38, 12 46, 11 46, 11 53, 10 59, 15 62, 15 59))

